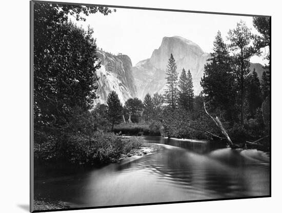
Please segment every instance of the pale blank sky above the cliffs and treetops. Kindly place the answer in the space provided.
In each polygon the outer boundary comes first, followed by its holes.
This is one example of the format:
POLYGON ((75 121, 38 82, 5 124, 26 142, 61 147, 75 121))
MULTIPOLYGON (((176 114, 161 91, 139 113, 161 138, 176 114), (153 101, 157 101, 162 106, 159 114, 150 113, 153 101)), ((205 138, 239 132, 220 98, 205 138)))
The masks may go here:
MULTIPOLYGON (((212 52, 217 31, 227 41, 229 29, 234 29, 240 20, 245 21, 253 33, 258 33, 252 25, 252 17, 235 15, 116 8, 116 12, 107 16, 90 14, 86 22, 71 19, 85 29, 88 25, 93 28, 99 48, 114 54, 127 54, 133 66, 150 58, 165 36, 182 36, 205 52, 212 52)), ((264 65, 263 57, 253 56, 250 61, 264 65)))

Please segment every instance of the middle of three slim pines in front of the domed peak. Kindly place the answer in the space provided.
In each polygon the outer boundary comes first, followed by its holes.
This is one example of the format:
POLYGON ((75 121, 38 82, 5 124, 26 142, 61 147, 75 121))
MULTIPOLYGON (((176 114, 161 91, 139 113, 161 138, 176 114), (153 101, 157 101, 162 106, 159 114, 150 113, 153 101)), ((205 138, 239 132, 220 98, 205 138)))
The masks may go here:
POLYGON ((183 68, 178 81, 178 105, 188 109, 188 79, 186 71, 183 68))

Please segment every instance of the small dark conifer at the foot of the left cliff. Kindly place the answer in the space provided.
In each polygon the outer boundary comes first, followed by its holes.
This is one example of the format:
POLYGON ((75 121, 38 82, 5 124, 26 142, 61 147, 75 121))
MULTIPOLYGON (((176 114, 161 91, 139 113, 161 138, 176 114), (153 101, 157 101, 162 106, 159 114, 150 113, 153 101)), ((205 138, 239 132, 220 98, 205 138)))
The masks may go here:
POLYGON ((107 119, 112 124, 112 131, 114 124, 119 124, 122 121, 123 106, 118 99, 115 91, 112 91, 107 98, 108 113, 107 119))

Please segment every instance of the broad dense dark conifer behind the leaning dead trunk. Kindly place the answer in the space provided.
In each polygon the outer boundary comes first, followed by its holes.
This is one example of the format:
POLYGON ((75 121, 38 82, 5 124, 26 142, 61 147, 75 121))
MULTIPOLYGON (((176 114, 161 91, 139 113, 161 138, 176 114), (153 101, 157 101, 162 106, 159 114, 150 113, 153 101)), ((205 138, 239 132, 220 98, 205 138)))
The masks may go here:
POLYGON ((234 78, 231 73, 231 59, 228 48, 218 31, 213 42, 213 52, 210 63, 204 67, 201 79, 202 93, 206 94, 206 101, 211 101, 214 109, 225 111, 225 119, 233 121, 235 105, 234 78))

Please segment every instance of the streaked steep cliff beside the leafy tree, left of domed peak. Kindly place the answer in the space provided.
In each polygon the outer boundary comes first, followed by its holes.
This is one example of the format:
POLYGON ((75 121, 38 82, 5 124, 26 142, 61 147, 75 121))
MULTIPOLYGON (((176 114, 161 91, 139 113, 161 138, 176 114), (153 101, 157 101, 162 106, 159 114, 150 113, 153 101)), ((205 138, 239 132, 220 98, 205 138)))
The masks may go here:
POLYGON ((127 99, 136 97, 137 91, 130 58, 127 55, 112 55, 100 50, 97 51, 97 56, 101 67, 96 70, 99 77, 96 93, 99 98, 94 100, 94 105, 106 103, 108 94, 112 90, 116 91, 123 104, 127 99))

